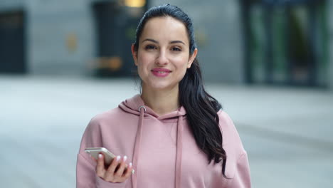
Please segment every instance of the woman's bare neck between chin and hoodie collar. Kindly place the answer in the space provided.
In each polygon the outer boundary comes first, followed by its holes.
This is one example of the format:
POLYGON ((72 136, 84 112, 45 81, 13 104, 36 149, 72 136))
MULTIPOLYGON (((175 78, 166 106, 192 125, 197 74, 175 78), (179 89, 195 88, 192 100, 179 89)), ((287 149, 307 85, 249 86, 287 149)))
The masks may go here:
POLYGON ((154 90, 142 85, 141 98, 158 115, 171 113, 179 108, 178 85, 171 90, 154 90))

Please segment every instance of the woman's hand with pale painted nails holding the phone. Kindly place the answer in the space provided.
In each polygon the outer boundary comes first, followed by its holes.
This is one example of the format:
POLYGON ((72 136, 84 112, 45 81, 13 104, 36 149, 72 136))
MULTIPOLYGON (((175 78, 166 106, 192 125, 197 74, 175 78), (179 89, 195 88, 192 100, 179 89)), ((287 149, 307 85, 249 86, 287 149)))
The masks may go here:
POLYGON ((127 165, 125 162, 127 157, 121 159, 120 156, 115 157, 109 167, 105 167, 104 155, 99 154, 96 166, 96 174, 106 182, 122 183, 132 174, 132 162, 127 165))

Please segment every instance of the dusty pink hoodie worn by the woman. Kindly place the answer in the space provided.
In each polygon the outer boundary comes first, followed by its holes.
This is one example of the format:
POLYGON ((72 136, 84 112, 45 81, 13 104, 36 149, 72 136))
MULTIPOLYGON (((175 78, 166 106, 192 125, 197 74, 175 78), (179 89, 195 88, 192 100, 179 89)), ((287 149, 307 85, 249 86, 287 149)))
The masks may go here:
POLYGON ((226 150, 226 179, 221 163, 208 164, 196 145, 183 107, 159 116, 139 95, 118 108, 96 115, 83 134, 76 167, 76 187, 250 187, 248 156, 231 118, 218 112, 226 150), (139 108, 139 107, 144 108, 139 108), (105 182, 95 173, 96 163, 86 147, 105 147, 115 155, 127 155, 135 173, 122 183, 105 182))

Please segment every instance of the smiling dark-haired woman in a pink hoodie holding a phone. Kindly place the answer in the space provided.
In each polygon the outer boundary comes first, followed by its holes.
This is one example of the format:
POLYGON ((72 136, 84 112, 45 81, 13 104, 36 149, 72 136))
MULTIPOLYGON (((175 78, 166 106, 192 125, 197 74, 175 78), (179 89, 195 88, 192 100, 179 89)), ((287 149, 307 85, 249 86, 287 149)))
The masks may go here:
POLYGON ((77 187, 250 187, 247 154, 230 117, 203 88, 197 53, 181 9, 167 4, 144 14, 132 45, 141 95, 90 121, 77 187), (105 156, 93 160, 86 147, 122 157, 105 167, 105 156))

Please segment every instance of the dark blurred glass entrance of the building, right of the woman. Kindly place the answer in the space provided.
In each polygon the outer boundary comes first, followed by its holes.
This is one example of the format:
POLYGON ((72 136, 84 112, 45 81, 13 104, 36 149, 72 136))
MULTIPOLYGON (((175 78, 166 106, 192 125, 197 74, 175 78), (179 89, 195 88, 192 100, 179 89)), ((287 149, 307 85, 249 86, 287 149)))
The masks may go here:
POLYGON ((248 83, 329 85, 328 1, 241 2, 248 83))

